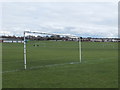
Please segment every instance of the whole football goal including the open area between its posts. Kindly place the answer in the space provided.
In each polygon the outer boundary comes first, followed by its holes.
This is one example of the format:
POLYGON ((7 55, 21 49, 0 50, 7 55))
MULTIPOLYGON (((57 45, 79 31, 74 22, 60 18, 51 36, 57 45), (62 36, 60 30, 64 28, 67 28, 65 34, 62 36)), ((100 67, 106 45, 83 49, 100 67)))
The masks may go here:
POLYGON ((24 31, 24 69, 81 63, 81 38, 70 34, 24 31))

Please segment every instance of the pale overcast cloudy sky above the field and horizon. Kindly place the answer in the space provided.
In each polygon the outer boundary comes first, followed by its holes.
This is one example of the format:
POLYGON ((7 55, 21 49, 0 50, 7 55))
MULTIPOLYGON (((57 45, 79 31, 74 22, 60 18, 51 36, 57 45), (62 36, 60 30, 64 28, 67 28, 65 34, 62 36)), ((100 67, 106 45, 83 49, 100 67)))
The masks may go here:
POLYGON ((4 2, 0 34, 24 30, 118 37, 118 6, 113 2, 4 2))

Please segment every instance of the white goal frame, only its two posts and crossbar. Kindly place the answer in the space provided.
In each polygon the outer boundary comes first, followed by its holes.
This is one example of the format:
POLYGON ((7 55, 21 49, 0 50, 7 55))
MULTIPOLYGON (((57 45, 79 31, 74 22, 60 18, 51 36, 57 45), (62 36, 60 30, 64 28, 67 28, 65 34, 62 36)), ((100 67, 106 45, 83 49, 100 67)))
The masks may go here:
POLYGON ((81 52, 81 38, 75 35, 69 35, 69 34, 57 34, 57 33, 45 33, 45 32, 34 32, 34 31, 24 31, 24 69, 27 69, 27 52, 26 52, 26 34, 41 34, 41 35, 60 35, 60 36, 67 36, 69 38, 76 38, 79 43, 79 62, 82 61, 82 52, 81 52))

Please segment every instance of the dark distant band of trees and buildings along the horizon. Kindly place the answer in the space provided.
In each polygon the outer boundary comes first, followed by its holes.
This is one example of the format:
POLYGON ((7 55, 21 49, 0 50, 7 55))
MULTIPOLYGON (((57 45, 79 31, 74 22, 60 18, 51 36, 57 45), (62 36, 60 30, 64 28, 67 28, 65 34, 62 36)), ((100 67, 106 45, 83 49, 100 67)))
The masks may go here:
MULTIPOLYGON (((24 40, 23 36, 1 36, 1 38, 9 39, 9 40, 24 40)), ((82 42, 120 42, 120 38, 81 38, 82 42)), ((62 41, 76 41, 75 38, 70 38, 68 36, 60 36, 60 35, 51 35, 51 36, 26 36, 28 40, 62 40, 62 41)))

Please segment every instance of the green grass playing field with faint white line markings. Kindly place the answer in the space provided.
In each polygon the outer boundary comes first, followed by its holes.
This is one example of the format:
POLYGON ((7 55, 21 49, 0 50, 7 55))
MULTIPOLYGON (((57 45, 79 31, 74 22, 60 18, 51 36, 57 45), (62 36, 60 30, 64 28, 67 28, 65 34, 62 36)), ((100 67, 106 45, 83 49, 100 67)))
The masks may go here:
POLYGON ((40 41, 3 43, 3 88, 117 88, 118 43, 40 41), (39 46, 34 47, 34 44, 39 46))

